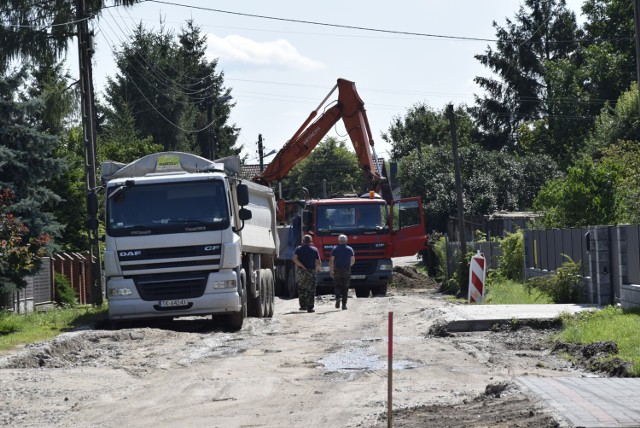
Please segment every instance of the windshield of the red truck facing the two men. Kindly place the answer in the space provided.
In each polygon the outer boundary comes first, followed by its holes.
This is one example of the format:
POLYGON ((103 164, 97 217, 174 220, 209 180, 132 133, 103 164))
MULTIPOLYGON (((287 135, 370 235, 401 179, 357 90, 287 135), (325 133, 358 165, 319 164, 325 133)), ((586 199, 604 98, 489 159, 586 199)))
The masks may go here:
POLYGON ((316 211, 318 235, 381 234, 389 232, 384 203, 320 205, 316 211))

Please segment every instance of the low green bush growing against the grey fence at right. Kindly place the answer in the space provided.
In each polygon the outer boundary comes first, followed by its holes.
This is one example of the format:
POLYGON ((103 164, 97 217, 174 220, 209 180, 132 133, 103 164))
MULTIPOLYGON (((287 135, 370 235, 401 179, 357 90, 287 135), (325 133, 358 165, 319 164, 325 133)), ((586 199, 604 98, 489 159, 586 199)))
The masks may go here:
POLYGON ((567 259, 553 275, 529 278, 526 282, 529 292, 532 289, 548 294, 554 303, 577 303, 578 285, 580 282, 580 263, 563 254, 567 259))

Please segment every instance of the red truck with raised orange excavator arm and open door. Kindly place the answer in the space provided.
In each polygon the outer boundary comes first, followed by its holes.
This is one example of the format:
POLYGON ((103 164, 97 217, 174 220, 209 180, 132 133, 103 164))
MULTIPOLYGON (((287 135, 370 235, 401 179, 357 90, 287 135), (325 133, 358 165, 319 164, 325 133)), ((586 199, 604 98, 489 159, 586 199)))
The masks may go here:
POLYGON ((320 289, 333 289, 329 256, 338 244, 338 236, 348 237, 356 257, 351 287, 357 297, 368 297, 371 293, 385 295, 393 274, 391 258, 415 255, 425 246, 422 201, 419 197, 394 200, 384 166, 375 154, 364 103, 351 81, 338 79, 318 108, 253 181, 269 185, 282 180, 311 154, 340 119, 349 133, 368 190, 354 197, 278 201, 280 256, 276 261, 276 291, 280 295, 296 295, 295 265, 291 257, 305 233, 313 237, 314 245, 320 250, 322 272, 317 275, 320 289), (338 100, 313 121, 336 89, 338 100))

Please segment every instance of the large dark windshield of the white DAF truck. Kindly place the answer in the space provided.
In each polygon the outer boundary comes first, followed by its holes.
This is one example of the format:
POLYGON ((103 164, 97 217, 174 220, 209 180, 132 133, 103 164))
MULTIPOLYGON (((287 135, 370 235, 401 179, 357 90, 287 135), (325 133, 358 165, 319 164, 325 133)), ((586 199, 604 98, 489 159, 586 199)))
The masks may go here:
POLYGON ((107 196, 110 236, 229 227, 227 197, 221 180, 112 187, 107 196))

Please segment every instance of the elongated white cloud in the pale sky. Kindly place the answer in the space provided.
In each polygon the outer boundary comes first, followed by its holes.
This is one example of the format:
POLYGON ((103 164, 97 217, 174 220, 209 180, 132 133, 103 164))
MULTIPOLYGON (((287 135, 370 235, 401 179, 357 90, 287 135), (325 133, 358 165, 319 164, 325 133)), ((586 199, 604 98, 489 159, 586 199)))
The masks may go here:
POLYGON ((207 54, 225 62, 300 71, 324 68, 323 63, 303 56, 291 43, 282 39, 257 42, 237 35, 220 38, 215 34, 208 34, 207 42, 207 54))

